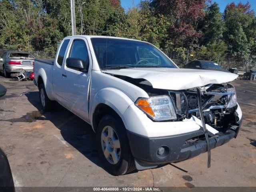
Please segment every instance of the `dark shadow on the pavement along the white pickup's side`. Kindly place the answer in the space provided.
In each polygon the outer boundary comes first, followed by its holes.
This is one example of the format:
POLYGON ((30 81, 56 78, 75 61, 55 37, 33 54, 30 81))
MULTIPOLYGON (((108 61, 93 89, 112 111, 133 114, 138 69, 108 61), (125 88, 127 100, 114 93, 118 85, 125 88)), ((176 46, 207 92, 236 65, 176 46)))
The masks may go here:
MULTIPOLYGON (((25 96, 38 111, 42 112, 42 107, 39 101, 39 92, 28 92, 25 96)), ((56 108, 53 112, 42 113, 42 115, 45 118, 39 118, 40 120, 51 121, 60 130, 60 133, 66 142, 76 148, 91 162, 106 170, 100 162, 96 148, 96 134, 89 124, 59 104, 56 104, 56 108)))

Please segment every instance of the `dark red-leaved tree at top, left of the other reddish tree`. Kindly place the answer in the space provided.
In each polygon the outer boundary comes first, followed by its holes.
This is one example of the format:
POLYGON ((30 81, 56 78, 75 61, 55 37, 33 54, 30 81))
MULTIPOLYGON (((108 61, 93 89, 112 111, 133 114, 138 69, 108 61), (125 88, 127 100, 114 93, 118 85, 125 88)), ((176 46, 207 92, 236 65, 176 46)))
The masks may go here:
POLYGON ((167 16, 170 22, 169 38, 177 47, 198 45, 202 33, 197 30, 198 19, 209 0, 152 0, 151 8, 167 16))

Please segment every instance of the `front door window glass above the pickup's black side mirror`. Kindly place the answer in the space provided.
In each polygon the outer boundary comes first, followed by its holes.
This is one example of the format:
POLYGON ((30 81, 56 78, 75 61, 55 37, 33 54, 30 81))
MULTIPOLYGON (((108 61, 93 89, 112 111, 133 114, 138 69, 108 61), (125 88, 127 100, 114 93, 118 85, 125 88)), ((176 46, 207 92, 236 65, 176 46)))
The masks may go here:
MULTIPOLYGON (((84 40, 74 40, 69 57, 79 58, 83 60, 84 63, 89 63, 88 50, 84 40)), ((87 67, 89 67, 89 65, 87 65, 87 67)))

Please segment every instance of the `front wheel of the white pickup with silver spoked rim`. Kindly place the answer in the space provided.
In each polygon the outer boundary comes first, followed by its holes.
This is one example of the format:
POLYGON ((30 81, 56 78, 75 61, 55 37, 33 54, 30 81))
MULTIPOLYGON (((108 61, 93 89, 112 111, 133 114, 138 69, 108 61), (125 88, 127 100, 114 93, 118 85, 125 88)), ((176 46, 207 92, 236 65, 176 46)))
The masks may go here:
POLYGON ((104 116, 96 132, 100 160, 113 175, 123 175, 135 170, 126 128, 122 120, 114 116, 104 116))

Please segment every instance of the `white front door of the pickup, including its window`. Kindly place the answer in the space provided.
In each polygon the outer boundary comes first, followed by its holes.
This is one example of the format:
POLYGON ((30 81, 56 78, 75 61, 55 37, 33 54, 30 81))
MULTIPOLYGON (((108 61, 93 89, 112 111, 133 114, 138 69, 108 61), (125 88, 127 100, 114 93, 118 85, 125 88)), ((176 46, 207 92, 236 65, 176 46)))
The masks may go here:
POLYGON ((66 88, 63 97, 68 101, 68 108, 88 121, 88 92, 92 61, 88 53, 87 40, 85 38, 74 38, 66 58, 79 58, 84 63, 89 63, 86 69, 87 72, 68 68, 66 62, 62 71, 62 74, 64 74, 63 84, 66 88))

